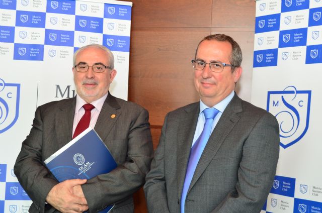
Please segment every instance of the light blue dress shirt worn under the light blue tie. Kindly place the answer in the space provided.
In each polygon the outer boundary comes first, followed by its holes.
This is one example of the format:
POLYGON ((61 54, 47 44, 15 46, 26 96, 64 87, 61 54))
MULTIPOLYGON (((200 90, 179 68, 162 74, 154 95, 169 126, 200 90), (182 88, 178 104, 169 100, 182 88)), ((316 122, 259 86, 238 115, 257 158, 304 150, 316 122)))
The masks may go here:
MULTIPOLYGON (((219 110, 219 113, 217 114, 217 116, 213 120, 211 133, 215 129, 223 111, 226 109, 226 107, 227 107, 228 103, 231 101, 233 95, 234 95, 234 91, 232 90, 232 92, 227 97, 225 97, 222 101, 220 101, 219 103, 217 103, 216 105, 213 106, 213 108, 216 108, 217 110, 219 110)), ((206 119, 205 119, 205 116, 203 115, 202 111, 206 108, 209 108, 209 107, 200 100, 200 113, 199 113, 199 117, 198 117, 195 135, 194 135, 193 141, 192 141, 192 146, 194 145, 196 140, 199 138, 199 136, 203 130, 203 126, 205 124, 206 119)))

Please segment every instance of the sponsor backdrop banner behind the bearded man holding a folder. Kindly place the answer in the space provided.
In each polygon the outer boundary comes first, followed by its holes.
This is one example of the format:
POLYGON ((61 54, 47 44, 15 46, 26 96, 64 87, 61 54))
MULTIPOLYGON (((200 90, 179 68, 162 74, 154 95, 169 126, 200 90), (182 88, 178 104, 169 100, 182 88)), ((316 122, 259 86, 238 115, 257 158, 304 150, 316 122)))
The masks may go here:
POLYGON ((132 3, 0 0, 0 213, 28 212, 13 167, 36 107, 73 97, 73 52, 103 44, 115 57, 113 95, 127 99, 132 3))

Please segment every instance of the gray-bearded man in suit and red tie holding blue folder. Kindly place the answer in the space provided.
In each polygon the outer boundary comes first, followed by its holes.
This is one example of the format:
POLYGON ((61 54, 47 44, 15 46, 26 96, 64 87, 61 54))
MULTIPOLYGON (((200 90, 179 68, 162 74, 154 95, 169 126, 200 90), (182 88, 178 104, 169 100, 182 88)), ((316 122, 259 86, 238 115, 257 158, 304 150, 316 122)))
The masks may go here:
POLYGON ((29 136, 22 144, 14 171, 33 203, 30 212, 133 212, 132 194, 144 183, 152 159, 148 113, 139 105, 109 93, 114 56, 101 45, 88 45, 74 54, 76 97, 37 108, 29 136), (91 103, 90 127, 111 151, 117 168, 89 180, 58 183, 44 160, 72 139, 91 103))

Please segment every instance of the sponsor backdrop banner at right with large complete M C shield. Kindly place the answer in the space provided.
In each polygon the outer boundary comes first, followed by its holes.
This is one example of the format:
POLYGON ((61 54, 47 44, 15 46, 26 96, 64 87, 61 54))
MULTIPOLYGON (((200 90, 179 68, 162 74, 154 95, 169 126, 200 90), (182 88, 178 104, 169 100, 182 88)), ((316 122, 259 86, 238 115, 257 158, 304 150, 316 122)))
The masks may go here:
POLYGON ((262 212, 322 212, 322 0, 257 1, 252 102, 280 126, 262 212))

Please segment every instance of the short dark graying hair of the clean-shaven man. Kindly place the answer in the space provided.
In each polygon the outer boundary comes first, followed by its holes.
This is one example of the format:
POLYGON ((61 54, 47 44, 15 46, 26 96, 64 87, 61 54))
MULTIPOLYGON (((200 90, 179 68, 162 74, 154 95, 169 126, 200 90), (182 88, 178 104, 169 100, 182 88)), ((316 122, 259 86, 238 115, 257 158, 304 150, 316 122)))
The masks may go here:
MULTIPOLYGON (((206 36, 205 38, 203 38, 197 46, 195 58, 197 56, 198 47, 199 47, 200 43, 203 42, 204 40, 208 40, 208 41, 216 40, 216 41, 222 41, 222 42, 224 42, 224 41, 229 42, 232 47, 229 62, 233 66, 233 68, 240 67, 241 61, 243 61, 243 54, 241 53, 241 49, 240 49, 239 45, 237 44, 237 42, 235 42, 235 40, 233 40, 230 36, 227 36, 224 34, 213 34, 213 35, 209 35, 209 36, 206 36)), ((233 70, 234 69, 232 69, 232 71, 233 70)))

